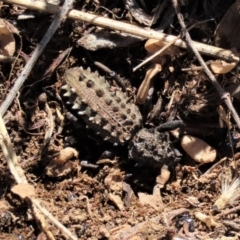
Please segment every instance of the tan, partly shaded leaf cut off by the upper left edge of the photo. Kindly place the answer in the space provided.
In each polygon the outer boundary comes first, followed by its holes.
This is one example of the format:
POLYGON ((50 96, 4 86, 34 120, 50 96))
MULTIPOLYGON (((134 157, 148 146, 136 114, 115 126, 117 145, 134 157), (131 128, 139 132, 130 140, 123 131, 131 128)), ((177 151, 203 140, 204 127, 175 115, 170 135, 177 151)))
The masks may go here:
POLYGON ((12 32, 9 30, 9 23, 0 19, 0 54, 12 57, 15 52, 15 39, 12 32))

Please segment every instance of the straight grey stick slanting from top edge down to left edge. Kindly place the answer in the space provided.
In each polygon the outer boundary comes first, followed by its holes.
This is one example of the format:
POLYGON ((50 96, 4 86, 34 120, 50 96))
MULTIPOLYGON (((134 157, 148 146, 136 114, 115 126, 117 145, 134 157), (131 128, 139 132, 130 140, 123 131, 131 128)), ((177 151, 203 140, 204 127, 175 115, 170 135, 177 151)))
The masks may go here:
MULTIPOLYGON (((25 2, 25 1, 24 1, 25 2)), ((38 44, 38 46, 35 48, 35 50, 32 53, 31 58, 23 68, 21 75, 18 77, 18 79, 15 81, 12 89, 8 93, 5 101, 0 106, 0 115, 4 115, 7 111, 8 107, 11 105, 13 99, 16 97, 18 91, 22 87, 24 81, 27 79, 29 73, 31 72, 34 64, 42 54, 43 50, 47 46, 48 42, 51 40, 53 34, 58 29, 61 22, 65 19, 66 15, 68 14, 69 10, 72 8, 74 0, 65 0, 62 8, 60 11, 56 11, 56 16, 50 25, 49 29, 47 30, 46 34, 42 38, 41 42, 38 44)), ((35 4, 35 2, 32 2, 32 4, 35 4)), ((50 4, 51 5, 51 4, 50 4)))

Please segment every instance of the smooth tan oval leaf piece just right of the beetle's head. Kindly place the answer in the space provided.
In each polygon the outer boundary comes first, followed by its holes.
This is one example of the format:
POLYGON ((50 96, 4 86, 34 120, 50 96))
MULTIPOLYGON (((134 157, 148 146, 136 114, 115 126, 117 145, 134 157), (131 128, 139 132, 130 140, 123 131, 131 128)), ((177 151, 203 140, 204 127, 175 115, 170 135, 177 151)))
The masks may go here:
POLYGON ((217 151, 203 140, 185 135, 181 139, 181 146, 184 151, 196 162, 213 162, 217 156, 217 151))

